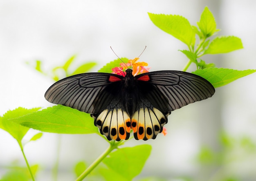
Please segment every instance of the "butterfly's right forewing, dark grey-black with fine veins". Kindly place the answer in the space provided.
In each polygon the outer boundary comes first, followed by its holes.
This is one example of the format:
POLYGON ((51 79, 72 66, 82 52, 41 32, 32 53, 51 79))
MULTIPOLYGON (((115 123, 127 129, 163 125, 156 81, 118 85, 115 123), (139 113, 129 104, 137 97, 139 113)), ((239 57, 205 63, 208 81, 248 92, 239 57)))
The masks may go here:
MULTIPOLYGON (((215 90, 206 79, 182 71, 155 71, 135 76, 135 79, 148 76, 152 91, 145 96, 151 104, 163 112, 173 111, 190 103, 211 97, 215 90), (164 104, 160 104, 160 103, 164 104)), ((144 86, 143 86, 144 87, 144 86)))

